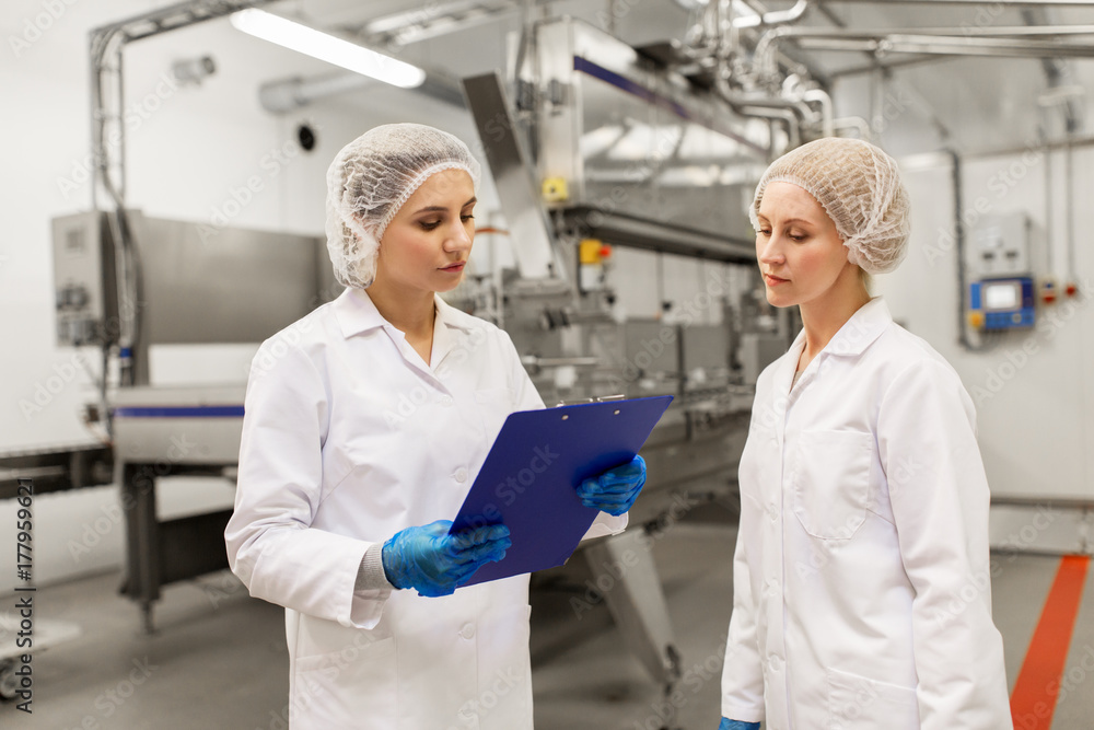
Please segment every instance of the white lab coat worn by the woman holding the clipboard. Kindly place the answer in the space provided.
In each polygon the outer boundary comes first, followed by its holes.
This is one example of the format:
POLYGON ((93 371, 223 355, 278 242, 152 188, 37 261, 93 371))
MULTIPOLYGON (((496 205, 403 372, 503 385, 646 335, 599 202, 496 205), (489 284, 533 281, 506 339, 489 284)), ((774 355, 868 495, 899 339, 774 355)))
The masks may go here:
POLYGON ((428 366, 354 289, 255 356, 225 538, 286 606, 292 730, 532 728, 527 576, 353 590, 370 544, 452 519, 505 417, 543 407, 504 332, 435 301, 428 366))

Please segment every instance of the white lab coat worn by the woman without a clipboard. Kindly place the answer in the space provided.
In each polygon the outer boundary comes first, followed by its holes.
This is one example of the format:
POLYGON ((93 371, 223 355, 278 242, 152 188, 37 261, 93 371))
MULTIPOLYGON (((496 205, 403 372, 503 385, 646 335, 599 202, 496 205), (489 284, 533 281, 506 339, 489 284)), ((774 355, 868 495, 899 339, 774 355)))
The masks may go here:
POLYGON ((953 368, 862 306, 756 384, 722 715, 765 730, 1010 730, 988 484, 953 368))

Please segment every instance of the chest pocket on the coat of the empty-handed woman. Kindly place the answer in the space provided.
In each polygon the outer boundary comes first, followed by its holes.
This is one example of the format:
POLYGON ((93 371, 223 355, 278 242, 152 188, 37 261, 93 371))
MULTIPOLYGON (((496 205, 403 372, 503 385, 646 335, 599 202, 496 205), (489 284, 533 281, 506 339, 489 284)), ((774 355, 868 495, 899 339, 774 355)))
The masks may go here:
POLYGON ((848 540, 866 519, 874 438, 862 431, 803 431, 794 466, 794 514, 805 532, 848 540))

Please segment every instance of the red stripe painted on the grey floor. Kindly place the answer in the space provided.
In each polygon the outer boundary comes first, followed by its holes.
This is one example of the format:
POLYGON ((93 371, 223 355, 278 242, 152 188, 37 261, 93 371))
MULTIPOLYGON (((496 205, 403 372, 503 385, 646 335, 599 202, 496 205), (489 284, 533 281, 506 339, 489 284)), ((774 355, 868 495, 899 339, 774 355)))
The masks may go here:
POLYGON ((1089 566, 1090 557, 1085 555, 1069 555, 1060 560, 1060 569, 1011 693, 1015 730, 1049 730, 1052 727, 1060 677, 1068 660, 1089 566))

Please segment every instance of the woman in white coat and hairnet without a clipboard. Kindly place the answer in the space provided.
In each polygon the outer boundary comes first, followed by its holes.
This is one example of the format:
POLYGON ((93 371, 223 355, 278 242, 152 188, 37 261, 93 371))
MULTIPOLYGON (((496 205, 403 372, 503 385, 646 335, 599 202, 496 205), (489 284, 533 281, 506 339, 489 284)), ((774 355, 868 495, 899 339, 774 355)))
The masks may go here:
POLYGON ((720 728, 1010 729, 973 404, 866 291, 906 251, 896 163, 811 142, 750 213, 767 299, 804 328, 756 383, 720 728))

